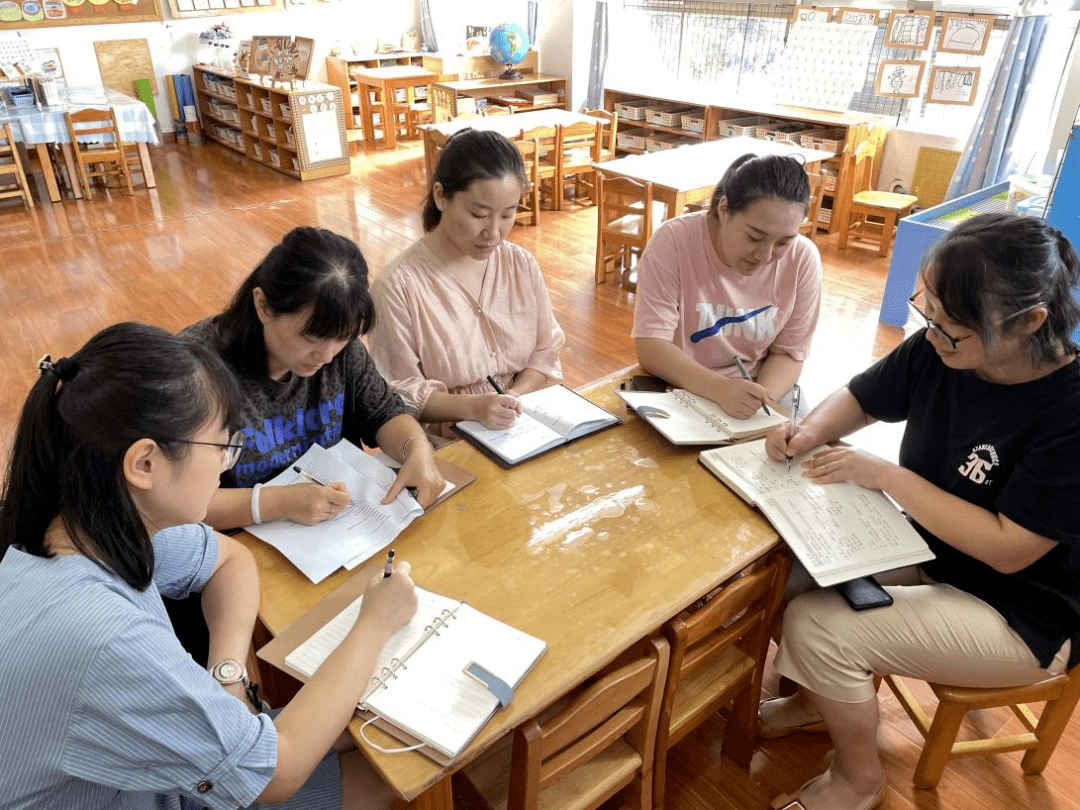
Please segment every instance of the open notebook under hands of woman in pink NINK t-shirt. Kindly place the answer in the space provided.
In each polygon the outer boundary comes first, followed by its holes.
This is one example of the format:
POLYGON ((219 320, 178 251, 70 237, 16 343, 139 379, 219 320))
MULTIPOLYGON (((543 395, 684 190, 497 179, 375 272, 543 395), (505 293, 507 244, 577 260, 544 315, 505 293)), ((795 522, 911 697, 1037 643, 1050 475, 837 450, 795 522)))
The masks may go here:
POLYGON ((735 419, 719 405, 684 389, 658 391, 616 391, 639 417, 660 431, 672 444, 730 444, 755 438, 787 417, 770 409, 758 410, 750 419, 735 419))

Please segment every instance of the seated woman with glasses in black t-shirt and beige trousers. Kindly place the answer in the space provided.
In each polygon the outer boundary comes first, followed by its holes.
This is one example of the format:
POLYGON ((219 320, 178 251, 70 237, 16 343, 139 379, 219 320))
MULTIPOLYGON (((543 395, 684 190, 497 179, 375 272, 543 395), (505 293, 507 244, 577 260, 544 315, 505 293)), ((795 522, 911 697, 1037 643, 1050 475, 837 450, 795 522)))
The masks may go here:
POLYGON ((949 232, 920 284, 927 328, 767 440, 780 460, 906 420, 900 464, 834 447, 802 474, 888 494, 936 555, 878 577, 883 609, 854 612, 833 589, 788 604, 777 671, 800 689, 762 703, 762 732, 827 730, 836 757, 777 807, 883 800, 874 675, 1008 687, 1080 661, 1077 254, 1039 219, 986 214, 949 232))

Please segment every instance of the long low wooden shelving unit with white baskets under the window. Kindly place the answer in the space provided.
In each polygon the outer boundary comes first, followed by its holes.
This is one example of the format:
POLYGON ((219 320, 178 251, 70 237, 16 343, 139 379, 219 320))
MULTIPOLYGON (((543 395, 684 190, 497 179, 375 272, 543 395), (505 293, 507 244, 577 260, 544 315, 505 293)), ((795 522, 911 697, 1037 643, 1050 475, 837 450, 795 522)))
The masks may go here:
POLYGON ((618 148, 623 152, 671 149, 685 143, 713 140, 729 135, 764 135, 769 140, 788 139, 802 146, 836 151, 836 158, 822 167, 825 191, 818 227, 828 232, 836 230, 836 222, 840 219, 839 211, 834 217, 834 208, 842 207, 837 191, 843 188, 850 153, 863 140, 870 141, 877 167, 877 153, 889 131, 889 123, 881 116, 752 104, 745 99, 706 99, 605 90, 604 107, 619 113, 618 148), (690 112, 686 118, 680 117, 675 125, 673 116, 678 109, 689 109, 690 112), (653 110, 651 117, 650 110, 653 110), (663 123, 659 123, 660 121, 663 123), (771 122, 771 129, 766 122, 771 122), (693 126, 694 131, 687 130, 687 124, 693 126), (787 124, 805 126, 785 126, 787 124))

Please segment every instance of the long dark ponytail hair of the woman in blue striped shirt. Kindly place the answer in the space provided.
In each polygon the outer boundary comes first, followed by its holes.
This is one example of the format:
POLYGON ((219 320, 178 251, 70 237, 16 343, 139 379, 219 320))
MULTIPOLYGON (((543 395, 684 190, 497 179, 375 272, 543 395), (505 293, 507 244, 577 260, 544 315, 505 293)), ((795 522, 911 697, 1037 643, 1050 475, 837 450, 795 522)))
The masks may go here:
POLYGON ((152 438, 168 458, 185 458, 189 445, 175 440, 215 417, 232 427, 238 401, 216 354, 157 326, 109 326, 70 357, 42 361, 4 482, 0 557, 12 545, 51 556, 45 530, 59 517, 80 552, 146 589, 153 546, 127 489, 124 454, 152 438))

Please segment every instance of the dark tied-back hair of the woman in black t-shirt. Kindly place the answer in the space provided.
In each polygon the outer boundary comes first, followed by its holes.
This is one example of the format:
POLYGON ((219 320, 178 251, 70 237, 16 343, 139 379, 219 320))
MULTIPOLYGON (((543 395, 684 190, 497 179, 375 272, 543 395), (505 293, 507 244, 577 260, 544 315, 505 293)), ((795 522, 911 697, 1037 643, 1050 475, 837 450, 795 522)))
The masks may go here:
POLYGON ((1065 235, 1035 217, 983 214, 954 228, 930 253, 927 284, 949 320, 991 349, 999 334, 1042 306, 1047 320, 1031 335, 1032 362, 1053 362, 1077 351, 1072 333, 1080 303, 1080 260, 1065 235))

